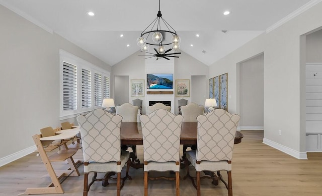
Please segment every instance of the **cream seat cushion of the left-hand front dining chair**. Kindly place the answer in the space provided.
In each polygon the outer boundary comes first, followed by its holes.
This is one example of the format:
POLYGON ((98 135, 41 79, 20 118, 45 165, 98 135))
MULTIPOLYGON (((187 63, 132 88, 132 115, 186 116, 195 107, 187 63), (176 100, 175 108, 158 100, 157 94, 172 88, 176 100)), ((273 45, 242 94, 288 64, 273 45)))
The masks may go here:
POLYGON ((128 151, 121 152, 121 164, 117 165, 116 161, 100 163, 100 162, 89 162, 88 165, 84 165, 84 172, 121 172, 125 163, 130 157, 130 153, 128 151))

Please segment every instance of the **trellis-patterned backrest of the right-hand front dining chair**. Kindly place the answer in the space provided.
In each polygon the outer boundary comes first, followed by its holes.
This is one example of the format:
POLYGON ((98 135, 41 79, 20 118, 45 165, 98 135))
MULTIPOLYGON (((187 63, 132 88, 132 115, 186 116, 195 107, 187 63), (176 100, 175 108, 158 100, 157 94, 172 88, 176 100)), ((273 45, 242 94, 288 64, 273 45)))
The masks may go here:
POLYGON ((197 117, 197 161, 231 160, 239 115, 223 109, 197 117))

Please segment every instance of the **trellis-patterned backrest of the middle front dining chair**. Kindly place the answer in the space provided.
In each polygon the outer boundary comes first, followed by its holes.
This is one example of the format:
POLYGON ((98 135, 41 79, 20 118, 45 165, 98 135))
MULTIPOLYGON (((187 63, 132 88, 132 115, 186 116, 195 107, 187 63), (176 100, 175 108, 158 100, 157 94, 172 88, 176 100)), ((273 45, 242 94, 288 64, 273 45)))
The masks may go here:
POLYGON ((182 119, 165 109, 140 116, 144 161, 180 161, 182 119))

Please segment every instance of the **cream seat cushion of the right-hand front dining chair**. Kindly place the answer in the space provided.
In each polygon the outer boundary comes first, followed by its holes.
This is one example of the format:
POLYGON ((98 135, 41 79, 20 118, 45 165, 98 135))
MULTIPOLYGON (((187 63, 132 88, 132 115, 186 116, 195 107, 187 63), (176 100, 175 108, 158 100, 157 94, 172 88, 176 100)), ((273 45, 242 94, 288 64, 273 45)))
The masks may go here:
POLYGON ((196 150, 186 151, 186 157, 191 162, 191 164, 196 168, 197 171, 219 171, 219 170, 227 170, 231 171, 231 164, 226 160, 220 161, 207 161, 202 160, 200 164, 197 164, 196 158, 196 150))

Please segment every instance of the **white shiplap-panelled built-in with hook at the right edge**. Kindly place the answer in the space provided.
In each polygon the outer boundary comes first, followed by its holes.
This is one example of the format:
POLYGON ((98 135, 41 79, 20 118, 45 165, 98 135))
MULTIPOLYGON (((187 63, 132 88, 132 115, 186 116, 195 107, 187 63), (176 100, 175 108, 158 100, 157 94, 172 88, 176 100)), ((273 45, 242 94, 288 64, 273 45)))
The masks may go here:
POLYGON ((322 152, 322 63, 306 64, 306 151, 322 152))

